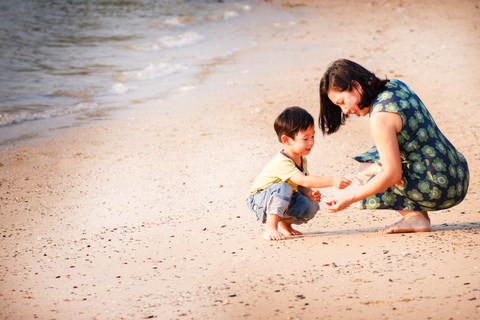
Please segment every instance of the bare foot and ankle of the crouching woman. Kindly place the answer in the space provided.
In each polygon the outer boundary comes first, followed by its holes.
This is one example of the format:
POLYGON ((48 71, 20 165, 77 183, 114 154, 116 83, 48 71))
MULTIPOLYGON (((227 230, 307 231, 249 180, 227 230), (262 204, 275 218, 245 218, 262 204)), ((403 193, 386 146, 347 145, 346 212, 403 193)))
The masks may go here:
POLYGON ((403 218, 378 231, 382 234, 399 232, 428 232, 431 228, 430 217, 426 211, 398 211, 403 218))

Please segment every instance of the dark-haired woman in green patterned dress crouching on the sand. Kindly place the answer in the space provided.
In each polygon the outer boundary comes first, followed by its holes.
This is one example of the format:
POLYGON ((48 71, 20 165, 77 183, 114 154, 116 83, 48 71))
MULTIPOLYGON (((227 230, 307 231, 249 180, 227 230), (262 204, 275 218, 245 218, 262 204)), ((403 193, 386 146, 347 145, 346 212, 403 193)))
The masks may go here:
POLYGON ((381 80, 346 59, 333 62, 320 80, 323 134, 335 133, 350 114, 370 116, 375 146, 354 157, 363 186, 329 201, 329 211, 358 201, 360 209, 391 209, 402 215, 380 233, 426 232, 429 211, 462 202, 469 181, 467 161, 407 85, 381 80))

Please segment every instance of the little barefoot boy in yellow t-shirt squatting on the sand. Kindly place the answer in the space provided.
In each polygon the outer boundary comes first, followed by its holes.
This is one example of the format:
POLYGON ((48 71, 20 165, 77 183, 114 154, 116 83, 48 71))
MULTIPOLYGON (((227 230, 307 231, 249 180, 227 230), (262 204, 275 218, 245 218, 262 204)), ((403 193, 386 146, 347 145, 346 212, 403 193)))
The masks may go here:
POLYGON ((255 179, 247 204, 253 216, 266 223, 264 239, 285 240, 285 236, 302 234, 292 224, 307 222, 320 209, 321 194, 311 188, 344 189, 351 181, 309 176, 305 156, 315 144, 315 127, 307 111, 299 107, 285 109, 274 128, 284 149, 255 179))

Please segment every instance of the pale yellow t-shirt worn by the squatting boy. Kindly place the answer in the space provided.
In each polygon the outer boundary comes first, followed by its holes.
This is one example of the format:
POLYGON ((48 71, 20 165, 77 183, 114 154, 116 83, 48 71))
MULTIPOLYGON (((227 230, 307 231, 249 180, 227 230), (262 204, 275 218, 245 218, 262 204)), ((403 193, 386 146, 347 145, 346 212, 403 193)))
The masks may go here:
POLYGON ((265 190, 270 185, 279 182, 288 183, 292 187, 293 192, 295 192, 298 185, 292 182, 290 177, 298 172, 303 172, 306 176, 308 176, 307 158, 305 156, 302 156, 302 169, 303 171, 297 167, 295 161, 280 151, 275 158, 273 158, 272 161, 270 161, 265 168, 263 168, 262 172, 260 172, 258 177, 255 179, 248 197, 254 194, 257 190, 265 190))

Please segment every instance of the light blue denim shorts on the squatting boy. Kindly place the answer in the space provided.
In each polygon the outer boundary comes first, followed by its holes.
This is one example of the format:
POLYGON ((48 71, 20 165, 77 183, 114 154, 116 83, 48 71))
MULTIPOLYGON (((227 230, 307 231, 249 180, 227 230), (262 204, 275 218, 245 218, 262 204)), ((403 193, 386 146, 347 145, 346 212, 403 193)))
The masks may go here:
POLYGON ((274 183, 267 189, 256 191, 247 200, 247 206, 255 219, 265 223, 267 214, 280 216, 280 221, 289 220, 302 224, 312 219, 320 205, 300 192, 293 192, 288 183, 274 183))

